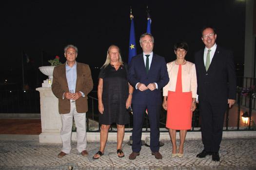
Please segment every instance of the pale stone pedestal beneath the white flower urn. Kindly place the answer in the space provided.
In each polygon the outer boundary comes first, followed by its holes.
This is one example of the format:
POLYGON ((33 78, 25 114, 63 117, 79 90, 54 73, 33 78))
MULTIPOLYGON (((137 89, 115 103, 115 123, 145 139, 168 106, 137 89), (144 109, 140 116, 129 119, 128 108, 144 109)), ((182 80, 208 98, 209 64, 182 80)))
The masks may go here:
POLYGON ((59 136, 61 118, 59 115, 58 98, 53 94, 51 87, 39 87, 42 133, 40 143, 61 143, 59 136))

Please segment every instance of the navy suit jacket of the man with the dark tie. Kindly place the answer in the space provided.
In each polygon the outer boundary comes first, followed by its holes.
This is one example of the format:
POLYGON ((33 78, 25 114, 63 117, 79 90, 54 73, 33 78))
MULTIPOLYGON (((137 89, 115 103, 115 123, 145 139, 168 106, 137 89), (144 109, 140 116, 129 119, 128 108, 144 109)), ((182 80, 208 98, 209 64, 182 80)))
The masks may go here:
POLYGON ((128 79, 130 84, 134 87, 132 103, 160 105, 162 103, 160 89, 169 82, 169 76, 164 58, 153 53, 152 62, 147 74, 143 54, 138 54, 132 58, 132 61, 129 64, 128 79), (140 91, 135 88, 137 83, 143 83, 146 86, 150 83, 157 83, 158 89, 153 91, 149 89, 140 91))

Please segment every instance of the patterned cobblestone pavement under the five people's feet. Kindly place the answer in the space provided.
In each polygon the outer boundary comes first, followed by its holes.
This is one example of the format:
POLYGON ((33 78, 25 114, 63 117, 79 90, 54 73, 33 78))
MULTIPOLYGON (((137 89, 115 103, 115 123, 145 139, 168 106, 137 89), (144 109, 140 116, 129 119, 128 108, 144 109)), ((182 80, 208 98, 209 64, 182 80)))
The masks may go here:
POLYGON ((183 158, 172 158, 171 142, 160 148, 163 159, 157 160, 150 148, 142 146, 140 155, 129 160, 131 146, 123 143, 124 158, 118 158, 116 142, 108 142, 105 153, 98 160, 92 156, 98 151, 99 142, 88 142, 88 157, 82 157, 72 143, 72 151, 63 158, 57 154, 60 144, 42 144, 38 140, 0 139, 0 170, 256 170, 256 138, 226 138, 220 148, 220 162, 211 156, 196 158, 203 146, 201 140, 187 140, 183 158))

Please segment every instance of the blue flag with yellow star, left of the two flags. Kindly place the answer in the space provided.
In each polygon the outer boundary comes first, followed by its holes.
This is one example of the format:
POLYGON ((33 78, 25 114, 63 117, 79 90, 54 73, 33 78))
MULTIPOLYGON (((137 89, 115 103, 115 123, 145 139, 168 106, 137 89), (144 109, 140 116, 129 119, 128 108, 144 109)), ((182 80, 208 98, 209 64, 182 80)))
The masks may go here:
POLYGON ((137 55, 136 51, 136 41, 135 41, 135 31, 134 31, 134 22, 133 15, 130 15, 131 18, 131 28, 130 28, 130 41, 129 41, 129 58, 128 63, 132 60, 132 58, 137 55))

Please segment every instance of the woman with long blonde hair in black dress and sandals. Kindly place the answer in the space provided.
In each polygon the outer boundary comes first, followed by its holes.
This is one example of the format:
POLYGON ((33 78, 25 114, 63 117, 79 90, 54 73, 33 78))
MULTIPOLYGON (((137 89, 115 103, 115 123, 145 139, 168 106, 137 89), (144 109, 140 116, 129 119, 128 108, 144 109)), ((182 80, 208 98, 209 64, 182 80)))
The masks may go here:
POLYGON ((129 123, 127 108, 132 103, 133 87, 128 83, 128 68, 122 62, 119 48, 109 47, 107 59, 98 76, 98 110, 100 128, 100 148, 93 159, 104 153, 108 131, 112 123, 117 123, 117 154, 124 157, 122 142, 124 125, 129 123))

